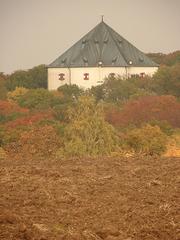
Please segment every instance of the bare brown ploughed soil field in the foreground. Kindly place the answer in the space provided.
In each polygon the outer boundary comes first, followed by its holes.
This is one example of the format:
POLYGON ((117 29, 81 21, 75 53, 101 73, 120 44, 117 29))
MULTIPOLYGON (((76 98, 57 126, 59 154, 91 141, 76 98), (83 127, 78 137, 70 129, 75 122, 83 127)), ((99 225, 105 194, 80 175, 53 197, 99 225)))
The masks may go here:
POLYGON ((180 240, 179 163, 0 160, 0 239, 180 240))

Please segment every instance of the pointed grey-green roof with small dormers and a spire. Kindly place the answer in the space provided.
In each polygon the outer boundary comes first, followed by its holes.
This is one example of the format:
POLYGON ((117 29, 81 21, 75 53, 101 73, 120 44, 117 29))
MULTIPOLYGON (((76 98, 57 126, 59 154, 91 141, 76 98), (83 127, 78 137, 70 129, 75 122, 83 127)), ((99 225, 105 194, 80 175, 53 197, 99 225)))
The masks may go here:
POLYGON ((158 66, 102 21, 48 67, 95 67, 100 62, 104 67, 158 66))

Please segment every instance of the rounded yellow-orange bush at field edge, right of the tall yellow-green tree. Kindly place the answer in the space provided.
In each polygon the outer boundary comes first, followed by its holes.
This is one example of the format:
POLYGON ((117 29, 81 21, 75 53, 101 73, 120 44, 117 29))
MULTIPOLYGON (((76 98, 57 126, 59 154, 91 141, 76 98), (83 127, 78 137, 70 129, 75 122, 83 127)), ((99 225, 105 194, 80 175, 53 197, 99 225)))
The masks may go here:
POLYGON ((158 126, 147 124, 128 132, 125 142, 126 146, 135 152, 161 155, 166 150, 167 137, 158 126))

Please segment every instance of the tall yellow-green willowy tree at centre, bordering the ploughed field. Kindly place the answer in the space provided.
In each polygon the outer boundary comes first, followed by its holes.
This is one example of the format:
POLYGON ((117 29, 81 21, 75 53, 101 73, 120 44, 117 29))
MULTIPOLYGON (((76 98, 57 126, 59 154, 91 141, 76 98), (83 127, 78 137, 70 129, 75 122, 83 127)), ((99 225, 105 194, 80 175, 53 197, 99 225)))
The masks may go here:
POLYGON ((91 97, 80 97, 68 111, 69 124, 64 130, 66 156, 103 156, 117 150, 118 137, 104 120, 102 107, 91 97))

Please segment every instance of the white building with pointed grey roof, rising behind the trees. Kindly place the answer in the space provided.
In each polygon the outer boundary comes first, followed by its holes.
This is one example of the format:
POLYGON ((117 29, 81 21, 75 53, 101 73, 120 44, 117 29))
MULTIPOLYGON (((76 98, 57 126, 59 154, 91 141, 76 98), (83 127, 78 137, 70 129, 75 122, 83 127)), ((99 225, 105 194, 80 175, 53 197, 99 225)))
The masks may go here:
POLYGON ((158 65, 102 19, 95 28, 48 66, 48 89, 76 84, 85 89, 108 76, 152 76, 158 65))

